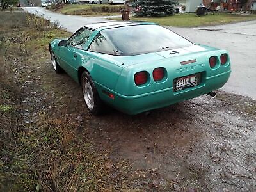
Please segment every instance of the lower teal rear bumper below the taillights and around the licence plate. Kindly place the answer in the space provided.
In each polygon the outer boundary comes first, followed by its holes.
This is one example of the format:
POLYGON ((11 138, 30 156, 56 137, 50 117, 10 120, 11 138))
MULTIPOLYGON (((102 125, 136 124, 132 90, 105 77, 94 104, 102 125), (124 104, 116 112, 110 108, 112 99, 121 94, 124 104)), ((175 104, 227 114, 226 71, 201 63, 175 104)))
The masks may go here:
POLYGON ((228 78, 230 77, 230 72, 231 70, 228 70, 227 72, 223 72, 216 76, 205 77, 205 81, 198 86, 186 88, 177 92, 173 92, 173 88, 170 87, 156 92, 125 96, 113 92, 108 88, 103 88, 100 84, 96 83, 96 86, 102 100, 124 113, 136 115, 144 111, 170 106, 171 104, 192 99, 213 90, 217 90, 227 83, 228 78), (102 93, 102 90, 107 90, 113 93, 115 99, 110 99, 106 94, 102 93))

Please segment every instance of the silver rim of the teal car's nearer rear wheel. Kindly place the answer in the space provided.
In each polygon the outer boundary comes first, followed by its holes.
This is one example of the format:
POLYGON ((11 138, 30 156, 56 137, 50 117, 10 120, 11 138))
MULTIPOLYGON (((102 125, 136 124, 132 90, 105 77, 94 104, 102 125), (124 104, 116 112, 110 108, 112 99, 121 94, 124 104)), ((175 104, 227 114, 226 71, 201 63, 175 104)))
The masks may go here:
POLYGON ((83 89, 83 95, 84 95, 84 100, 86 102, 86 105, 90 110, 92 110, 94 108, 93 90, 87 77, 83 77, 82 86, 83 86, 82 89, 83 89))

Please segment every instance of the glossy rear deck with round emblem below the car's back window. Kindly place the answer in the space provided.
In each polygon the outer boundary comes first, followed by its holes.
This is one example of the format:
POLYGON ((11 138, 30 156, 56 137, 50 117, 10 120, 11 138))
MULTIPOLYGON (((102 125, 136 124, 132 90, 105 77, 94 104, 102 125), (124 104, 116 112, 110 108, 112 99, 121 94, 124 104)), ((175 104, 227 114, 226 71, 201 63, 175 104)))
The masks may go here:
POLYGON ((163 60, 164 58, 173 58, 177 56, 184 56, 187 54, 194 54, 196 52, 214 51, 217 50, 213 47, 208 47, 205 45, 191 45, 188 47, 182 47, 167 51, 151 52, 147 54, 140 54, 134 56, 113 56, 101 54, 101 58, 104 58, 120 67, 127 67, 130 65, 135 65, 138 63, 147 63, 149 61, 163 60))

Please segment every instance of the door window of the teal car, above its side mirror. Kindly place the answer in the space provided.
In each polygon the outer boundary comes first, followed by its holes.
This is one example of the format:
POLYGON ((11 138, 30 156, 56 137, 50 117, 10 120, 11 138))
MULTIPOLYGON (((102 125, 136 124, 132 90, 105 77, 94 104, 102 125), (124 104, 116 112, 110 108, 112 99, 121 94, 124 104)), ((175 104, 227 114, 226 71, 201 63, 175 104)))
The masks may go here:
POLYGON ((68 44, 78 49, 85 49, 84 45, 86 44, 86 41, 88 40, 90 35, 92 35, 92 32, 93 31, 90 29, 82 28, 80 29, 80 31, 77 31, 77 33, 72 36, 72 38, 68 40, 68 44))

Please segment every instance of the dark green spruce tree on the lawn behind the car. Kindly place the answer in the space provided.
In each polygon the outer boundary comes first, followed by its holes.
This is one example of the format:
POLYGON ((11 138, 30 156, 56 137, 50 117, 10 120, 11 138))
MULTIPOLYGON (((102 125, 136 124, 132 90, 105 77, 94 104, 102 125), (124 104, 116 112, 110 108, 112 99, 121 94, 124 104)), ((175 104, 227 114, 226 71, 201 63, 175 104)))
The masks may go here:
POLYGON ((174 15, 175 0, 137 0, 134 2, 136 17, 163 17, 174 15))

